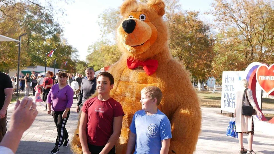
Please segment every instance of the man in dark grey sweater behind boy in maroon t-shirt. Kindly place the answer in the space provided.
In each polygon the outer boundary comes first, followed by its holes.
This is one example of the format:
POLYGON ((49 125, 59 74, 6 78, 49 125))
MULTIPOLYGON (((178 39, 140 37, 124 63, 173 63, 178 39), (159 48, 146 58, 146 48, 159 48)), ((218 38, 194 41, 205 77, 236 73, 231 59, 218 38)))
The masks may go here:
POLYGON ((96 91, 96 77, 94 77, 94 69, 91 67, 86 68, 86 77, 83 79, 80 86, 80 93, 78 97, 78 103, 76 107, 76 112, 79 113, 80 109, 84 105, 84 102, 96 91))

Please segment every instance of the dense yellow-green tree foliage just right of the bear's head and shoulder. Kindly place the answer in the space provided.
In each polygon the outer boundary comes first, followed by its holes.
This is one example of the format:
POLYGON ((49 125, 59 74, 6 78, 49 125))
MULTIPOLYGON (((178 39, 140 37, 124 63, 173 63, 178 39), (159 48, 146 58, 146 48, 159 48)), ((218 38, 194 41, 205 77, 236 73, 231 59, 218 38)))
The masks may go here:
POLYGON ((170 19, 170 51, 193 77, 210 76, 215 56, 210 28, 198 19, 199 12, 178 12, 170 19))

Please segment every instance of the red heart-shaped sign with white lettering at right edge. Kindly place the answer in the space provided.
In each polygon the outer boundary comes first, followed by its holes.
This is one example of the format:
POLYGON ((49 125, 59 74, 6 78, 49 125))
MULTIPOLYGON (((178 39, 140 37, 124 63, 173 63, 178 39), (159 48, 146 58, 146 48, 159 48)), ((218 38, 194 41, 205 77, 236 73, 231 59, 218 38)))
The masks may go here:
POLYGON ((262 64, 257 68, 256 79, 263 91, 269 95, 274 91, 274 64, 262 64))

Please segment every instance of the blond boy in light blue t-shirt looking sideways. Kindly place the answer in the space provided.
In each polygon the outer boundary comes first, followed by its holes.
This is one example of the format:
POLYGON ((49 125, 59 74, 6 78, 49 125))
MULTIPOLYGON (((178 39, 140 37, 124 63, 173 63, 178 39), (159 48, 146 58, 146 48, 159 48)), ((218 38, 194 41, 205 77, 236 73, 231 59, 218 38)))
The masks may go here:
POLYGON ((142 110, 132 118, 126 154, 168 153, 170 146, 171 126, 168 117, 158 109, 162 91, 155 86, 145 87, 141 91, 142 110))

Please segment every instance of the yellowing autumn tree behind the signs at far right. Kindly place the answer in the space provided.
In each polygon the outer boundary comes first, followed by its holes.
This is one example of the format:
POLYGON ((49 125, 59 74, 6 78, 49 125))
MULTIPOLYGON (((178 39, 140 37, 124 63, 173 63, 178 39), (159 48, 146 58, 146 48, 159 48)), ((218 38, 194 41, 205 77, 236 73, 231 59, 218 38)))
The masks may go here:
POLYGON ((274 63, 274 1, 214 0, 216 36, 212 74, 241 71, 252 62, 274 63))

